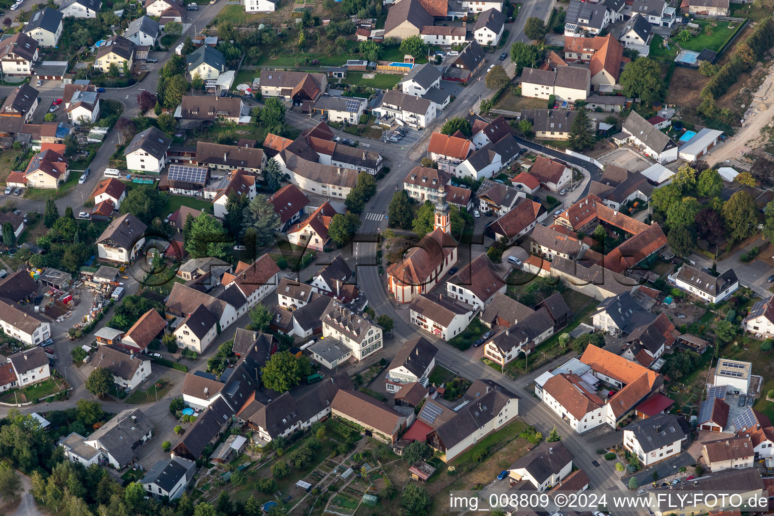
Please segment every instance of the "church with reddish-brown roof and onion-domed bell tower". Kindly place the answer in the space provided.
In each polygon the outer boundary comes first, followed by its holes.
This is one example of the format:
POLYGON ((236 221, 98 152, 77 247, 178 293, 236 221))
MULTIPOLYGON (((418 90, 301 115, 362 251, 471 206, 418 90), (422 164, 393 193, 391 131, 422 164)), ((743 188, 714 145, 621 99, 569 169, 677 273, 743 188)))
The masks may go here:
POLYGON ((457 241, 451 236, 449 203, 443 185, 438 189, 433 231, 426 234, 403 259, 387 268, 389 292, 397 302, 412 302, 430 292, 457 263, 457 241))

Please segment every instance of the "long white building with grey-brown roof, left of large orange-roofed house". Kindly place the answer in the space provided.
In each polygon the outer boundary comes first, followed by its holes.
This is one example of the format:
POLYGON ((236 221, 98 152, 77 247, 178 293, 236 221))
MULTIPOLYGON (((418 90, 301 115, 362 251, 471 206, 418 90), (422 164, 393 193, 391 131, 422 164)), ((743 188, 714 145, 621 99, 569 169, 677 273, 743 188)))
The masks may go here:
POLYGON ((525 68, 521 75, 522 96, 557 101, 585 101, 591 91, 591 71, 580 67, 557 67, 556 70, 525 68))

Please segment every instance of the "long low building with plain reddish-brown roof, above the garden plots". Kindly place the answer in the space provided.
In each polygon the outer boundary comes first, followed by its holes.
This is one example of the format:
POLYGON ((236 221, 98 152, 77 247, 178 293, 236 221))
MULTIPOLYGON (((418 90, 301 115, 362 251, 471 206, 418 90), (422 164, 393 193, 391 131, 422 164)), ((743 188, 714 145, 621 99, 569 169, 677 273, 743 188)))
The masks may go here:
POLYGON ((405 416, 360 391, 340 389, 330 403, 330 413, 334 418, 339 417, 362 426, 366 436, 391 444, 396 442, 398 433, 406 427, 405 416))

